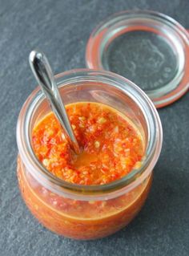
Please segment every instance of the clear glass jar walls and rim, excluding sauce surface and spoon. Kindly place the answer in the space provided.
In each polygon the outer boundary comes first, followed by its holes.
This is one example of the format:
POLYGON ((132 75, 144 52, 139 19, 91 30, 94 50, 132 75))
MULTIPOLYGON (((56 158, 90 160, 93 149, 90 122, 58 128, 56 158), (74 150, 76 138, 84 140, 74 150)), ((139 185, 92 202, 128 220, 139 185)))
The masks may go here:
POLYGON ((143 136, 142 165, 106 185, 75 185, 54 177, 37 160, 30 143, 34 126, 49 104, 37 88, 18 117, 18 183, 31 213, 46 228, 75 239, 103 238, 126 226, 144 204, 152 170, 159 158, 163 132, 159 115, 134 83, 109 71, 73 70, 56 76, 65 104, 107 104, 130 118, 143 136))

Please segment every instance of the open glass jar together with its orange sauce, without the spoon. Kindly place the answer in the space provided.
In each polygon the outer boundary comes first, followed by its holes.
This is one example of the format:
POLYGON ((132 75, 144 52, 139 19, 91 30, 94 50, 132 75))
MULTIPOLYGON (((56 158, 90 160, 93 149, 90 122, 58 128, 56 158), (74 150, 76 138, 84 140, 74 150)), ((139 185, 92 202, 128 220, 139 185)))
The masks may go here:
POLYGON ((139 213, 161 151, 159 115, 134 83, 108 71, 56 76, 76 155, 37 88, 18 117, 18 184, 30 212, 68 238, 103 238, 139 213))

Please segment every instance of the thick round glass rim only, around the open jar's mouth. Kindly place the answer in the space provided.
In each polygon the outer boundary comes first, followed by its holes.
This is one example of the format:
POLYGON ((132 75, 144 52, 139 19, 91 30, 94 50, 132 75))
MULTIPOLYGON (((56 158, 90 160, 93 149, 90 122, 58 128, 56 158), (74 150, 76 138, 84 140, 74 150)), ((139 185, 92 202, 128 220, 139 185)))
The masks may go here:
MULTIPOLYGON (((158 112, 155 109, 154 104, 151 102, 151 100, 148 98, 148 96, 135 85, 135 83, 132 83, 130 80, 125 79, 121 75, 117 75, 115 73, 112 73, 110 71, 95 71, 90 69, 75 69, 71 71, 62 72, 58 75, 55 75, 55 78, 64 78, 66 75, 70 75, 72 78, 78 79, 79 75, 81 77, 84 77, 85 75, 93 75, 93 77, 97 75, 101 75, 102 78, 107 77, 109 79, 118 79, 119 81, 122 81, 123 83, 127 84, 128 86, 132 88, 135 92, 138 93, 138 96, 140 95, 140 98, 138 97, 137 100, 142 100, 140 104, 140 108, 143 108, 144 112, 147 112, 147 110, 151 113, 151 122, 154 125, 154 133, 150 136, 149 141, 147 141, 147 152, 146 158, 144 159, 142 166, 140 169, 133 169, 131 173, 129 173, 127 176, 124 176, 122 179, 119 179, 117 181, 113 181, 111 183, 107 183, 105 185, 76 185, 72 184, 66 181, 63 181, 59 179, 58 177, 55 177, 52 173, 50 173, 45 167, 38 161, 37 157, 34 155, 33 148, 30 143, 30 119, 34 112, 34 108, 36 107, 36 104, 40 100, 44 100, 45 97, 40 92, 39 88, 36 88, 28 97, 25 104, 23 104, 21 112, 18 116, 18 124, 17 124, 17 144, 18 144, 18 151, 21 156, 21 159, 25 165, 29 167, 29 169, 32 169, 32 172, 35 173, 36 176, 38 176, 38 179, 44 178, 43 181, 46 183, 46 186, 50 185, 52 183, 54 185, 54 189, 57 192, 57 189, 60 193, 63 193, 64 195, 70 195, 71 194, 77 194, 78 197, 90 197, 90 196, 98 196, 102 194, 104 196, 105 193, 115 193, 115 191, 119 190, 119 193, 121 193, 122 189, 125 189, 127 187, 128 190, 131 189, 131 187, 139 183, 141 179, 146 178, 151 173, 151 170, 154 168, 156 161, 158 161, 159 154, 162 148, 162 141, 163 141, 163 131, 162 131, 162 125, 161 121, 159 119, 158 112), (143 106, 143 107, 141 107, 143 106), (146 109, 144 109, 144 107, 146 109), (148 109, 147 109, 148 108, 148 109), (30 161, 28 161, 30 160, 30 161), (37 168, 37 171, 36 171, 37 168)), ((111 86, 113 86, 111 84, 111 86)), ((119 87, 118 85, 115 85, 115 87, 118 87, 119 90, 123 91, 124 93, 128 94, 128 91, 126 91, 126 88, 119 87)), ((151 128, 152 124, 148 124, 149 128, 151 128)))

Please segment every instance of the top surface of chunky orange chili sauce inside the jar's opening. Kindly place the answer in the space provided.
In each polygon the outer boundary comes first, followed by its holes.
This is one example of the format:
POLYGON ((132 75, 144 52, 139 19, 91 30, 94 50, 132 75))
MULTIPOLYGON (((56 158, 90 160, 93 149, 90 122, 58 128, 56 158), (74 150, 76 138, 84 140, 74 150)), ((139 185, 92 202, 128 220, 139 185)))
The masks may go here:
POLYGON ((103 185, 131 172, 143 156, 143 140, 125 116, 104 104, 66 106, 82 152, 70 150, 53 113, 34 128, 38 160, 54 176, 79 185, 103 185))

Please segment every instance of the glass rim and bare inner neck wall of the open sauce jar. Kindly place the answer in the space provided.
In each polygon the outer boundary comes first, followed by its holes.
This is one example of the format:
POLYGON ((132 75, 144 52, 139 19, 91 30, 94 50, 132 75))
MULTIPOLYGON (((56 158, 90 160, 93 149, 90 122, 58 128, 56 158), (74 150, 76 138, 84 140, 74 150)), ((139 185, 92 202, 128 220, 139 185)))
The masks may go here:
POLYGON ((23 164, 38 182, 58 190, 59 193, 79 195, 103 195, 122 189, 131 189, 144 180, 155 166, 162 146, 162 127, 159 115, 145 93, 131 81, 108 71, 87 69, 67 71, 56 75, 59 91, 65 104, 76 101, 101 102, 129 115, 143 130, 146 152, 140 169, 133 169, 127 176, 106 185, 76 185, 54 177, 38 161, 30 143, 34 125, 50 108, 42 92, 37 88, 23 105, 18 118, 17 140, 23 164))

